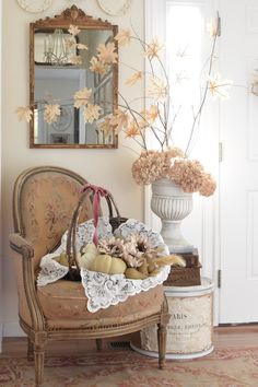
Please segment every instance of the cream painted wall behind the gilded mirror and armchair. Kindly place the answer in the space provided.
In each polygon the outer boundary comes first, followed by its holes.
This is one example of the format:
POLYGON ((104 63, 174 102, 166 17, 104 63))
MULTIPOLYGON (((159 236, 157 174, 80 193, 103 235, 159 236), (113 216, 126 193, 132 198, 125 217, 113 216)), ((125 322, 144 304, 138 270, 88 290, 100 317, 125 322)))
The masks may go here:
MULTIPOLYGON (((28 103, 28 23, 45 16, 54 16, 72 4, 67 0, 56 0, 51 8, 42 14, 23 11, 16 1, 3 1, 3 50, 2 63, 2 270, 4 301, 4 336, 17 336, 17 308, 14 274, 10 261, 8 243, 12 232, 12 188, 16 176, 25 168, 36 165, 58 165, 73 169, 96 185, 112 190, 120 211, 126 216, 142 219, 142 190, 131 178, 131 163, 136 155, 119 142, 117 150, 47 150, 28 148, 28 126, 19 122, 14 110, 28 103)), ((143 34, 143 0, 132 2, 130 10, 120 17, 109 17, 96 1, 78 3, 87 14, 108 19, 121 27, 130 27, 132 21, 140 36, 143 34)), ((120 50, 121 62, 142 70, 143 59, 138 45, 120 50)), ((139 84, 128 94, 122 81, 130 72, 120 64, 120 91, 132 99, 143 94, 139 84)), ((127 143, 128 145, 128 143, 127 143)))

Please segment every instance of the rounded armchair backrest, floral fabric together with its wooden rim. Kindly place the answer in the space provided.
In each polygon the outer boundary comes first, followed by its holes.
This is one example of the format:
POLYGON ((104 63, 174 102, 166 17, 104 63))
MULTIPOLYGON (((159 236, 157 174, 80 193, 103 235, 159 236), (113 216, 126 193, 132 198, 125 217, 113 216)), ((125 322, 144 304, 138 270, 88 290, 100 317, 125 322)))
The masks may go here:
MULTIPOLYGON (((17 177, 13 194, 14 231, 33 244, 35 270, 40 258, 59 245, 85 183, 75 173, 55 166, 30 168, 17 177)), ((80 221, 91 218, 89 197, 80 221)))

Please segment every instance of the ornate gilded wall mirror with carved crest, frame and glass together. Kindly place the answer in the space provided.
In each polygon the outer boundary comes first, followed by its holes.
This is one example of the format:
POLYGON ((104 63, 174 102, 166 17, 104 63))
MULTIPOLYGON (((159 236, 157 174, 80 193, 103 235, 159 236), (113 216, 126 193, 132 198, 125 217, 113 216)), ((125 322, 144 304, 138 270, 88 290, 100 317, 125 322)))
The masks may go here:
POLYGON ((117 108, 117 26, 72 5, 31 23, 31 148, 117 148, 105 117, 117 108), (102 62, 99 47, 113 54, 102 62))

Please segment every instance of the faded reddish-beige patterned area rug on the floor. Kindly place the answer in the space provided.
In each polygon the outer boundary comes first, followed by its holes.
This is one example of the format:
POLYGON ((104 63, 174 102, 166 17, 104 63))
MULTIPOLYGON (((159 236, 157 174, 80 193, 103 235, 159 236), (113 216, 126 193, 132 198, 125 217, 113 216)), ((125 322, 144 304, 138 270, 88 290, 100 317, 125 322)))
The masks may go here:
MULTIPOLYGON (((33 387, 34 363, 0 357, 1 387, 33 387)), ((258 349, 215 350, 191 361, 157 360, 127 350, 46 357, 44 387, 257 387, 258 349)))

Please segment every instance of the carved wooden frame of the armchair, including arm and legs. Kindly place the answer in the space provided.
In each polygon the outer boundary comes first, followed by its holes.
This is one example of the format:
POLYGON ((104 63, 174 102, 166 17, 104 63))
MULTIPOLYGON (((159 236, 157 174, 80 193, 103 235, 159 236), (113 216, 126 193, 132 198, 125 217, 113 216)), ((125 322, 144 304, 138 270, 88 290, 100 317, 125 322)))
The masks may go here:
POLYGON ((101 349, 101 339, 116 336, 128 335, 140 331, 151 325, 157 325, 157 342, 159 342, 159 366, 163 368, 165 363, 166 347, 166 325, 169 320, 167 302, 164 295, 164 302, 160 313, 152 314, 145 318, 134 320, 128 324, 115 322, 112 325, 102 325, 98 327, 90 326, 85 328, 58 329, 49 328, 47 318, 44 316, 36 288, 36 273, 33 263, 34 246, 26 239, 21 218, 21 192, 26 179, 33 174, 42 172, 57 172, 68 175, 79 181, 85 184, 85 179, 75 173, 54 166, 43 166, 27 169, 20 175, 15 183, 13 194, 13 219, 14 234, 10 235, 11 248, 19 253, 22 260, 22 277, 24 282, 26 303, 32 320, 32 325, 27 325, 20 316, 20 325, 28 337, 27 356, 35 361, 35 386, 43 386, 44 373, 44 347, 47 341, 51 340, 73 340, 73 339, 96 339, 97 349, 101 349))

